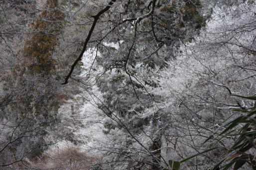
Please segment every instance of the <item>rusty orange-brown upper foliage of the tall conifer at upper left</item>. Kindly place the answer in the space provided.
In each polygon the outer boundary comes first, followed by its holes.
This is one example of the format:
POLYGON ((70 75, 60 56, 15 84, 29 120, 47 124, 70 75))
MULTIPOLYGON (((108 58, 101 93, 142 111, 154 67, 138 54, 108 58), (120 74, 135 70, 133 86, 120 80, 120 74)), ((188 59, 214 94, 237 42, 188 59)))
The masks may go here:
POLYGON ((25 42, 21 52, 28 63, 26 74, 54 73, 56 63, 52 59, 52 54, 63 21, 63 14, 57 7, 58 0, 46 0, 43 11, 31 23, 34 32, 25 42))

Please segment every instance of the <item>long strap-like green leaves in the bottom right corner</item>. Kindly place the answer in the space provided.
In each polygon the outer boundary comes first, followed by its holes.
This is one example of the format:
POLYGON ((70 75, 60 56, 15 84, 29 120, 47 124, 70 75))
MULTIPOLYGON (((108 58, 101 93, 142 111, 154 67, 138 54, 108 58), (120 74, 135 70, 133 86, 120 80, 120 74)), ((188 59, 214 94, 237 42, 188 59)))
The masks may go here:
MULTIPOLYGON (((249 100, 256 100, 255 96, 245 97, 240 95, 232 95, 237 96, 241 98, 246 98, 249 100)), ((184 163, 186 161, 189 161, 190 159, 197 157, 201 154, 204 154, 206 152, 210 152, 219 148, 225 149, 225 153, 222 155, 221 161, 216 163, 213 166, 213 170, 228 170, 232 166, 234 166, 233 170, 238 170, 242 168, 246 163, 250 165, 251 170, 256 170, 256 161, 255 155, 252 153, 255 153, 255 139, 256 139, 256 107, 248 108, 248 109, 235 109, 233 110, 235 113, 234 115, 238 115, 241 113, 240 116, 235 118, 229 118, 225 120, 222 125, 216 129, 213 132, 213 135, 211 135, 204 143, 209 141, 213 138, 213 136, 219 137, 217 142, 214 144, 214 146, 211 149, 208 149, 206 151, 203 151, 199 154, 196 154, 194 156, 191 156, 187 159, 184 159, 180 162, 174 162, 174 165, 180 165, 181 163, 184 163), (223 130, 224 128, 224 130, 223 130), (229 146, 218 146, 223 145, 222 141, 227 138, 232 138, 232 144, 229 144, 229 146), (250 153, 248 153, 250 151, 250 153), (225 165, 222 165, 224 162, 229 161, 229 163, 226 163, 225 165)), ((231 115, 230 117, 232 117, 231 115)), ((169 161, 170 170, 179 170, 180 167, 173 167, 172 161, 169 161)), ((169 170, 169 169, 164 169, 169 170)))

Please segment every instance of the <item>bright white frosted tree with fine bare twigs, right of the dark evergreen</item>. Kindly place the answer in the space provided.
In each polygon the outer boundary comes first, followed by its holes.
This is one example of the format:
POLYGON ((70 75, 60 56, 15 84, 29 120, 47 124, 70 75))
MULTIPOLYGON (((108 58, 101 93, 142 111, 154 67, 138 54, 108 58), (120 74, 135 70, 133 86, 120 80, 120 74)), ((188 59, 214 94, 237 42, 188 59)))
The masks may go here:
MULTIPOLYGON (((170 62, 170 68, 174 68, 174 76, 170 76, 171 81, 167 85, 170 93, 172 91, 173 95, 178 94, 179 108, 189 120, 186 124, 187 130, 183 133, 193 134, 196 144, 203 143, 203 136, 208 137, 222 121, 233 115, 231 109, 255 106, 253 101, 230 96, 255 95, 255 7, 255 2, 247 1, 230 6, 228 11, 220 7, 214 8, 213 15, 201 35, 182 46, 177 60, 170 62), (178 84, 173 85, 173 82, 178 84)), ((202 146, 193 146, 187 142, 190 145, 185 148, 195 149, 197 153, 213 146, 217 139, 218 136, 214 136, 211 142, 208 141, 202 146)), ((233 143, 232 139, 222 139, 218 143, 222 149, 208 153, 208 158, 204 161, 195 159, 188 164, 206 166, 218 162, 219 159, 213 159, 213 155, 220 157, 233 143)), ((181 146, 182 142, 178 141, 177 144, 181 146)), ((247 154, 253 152, 248 150, 242 153, 247 154)), ((247 166, 244 169, 250 169, 247 166)))

